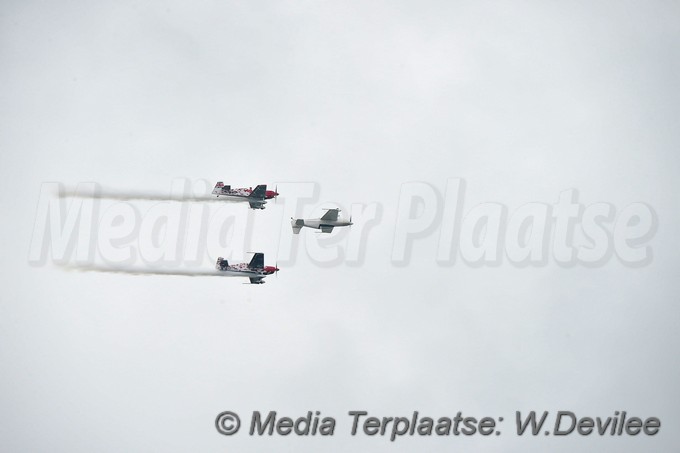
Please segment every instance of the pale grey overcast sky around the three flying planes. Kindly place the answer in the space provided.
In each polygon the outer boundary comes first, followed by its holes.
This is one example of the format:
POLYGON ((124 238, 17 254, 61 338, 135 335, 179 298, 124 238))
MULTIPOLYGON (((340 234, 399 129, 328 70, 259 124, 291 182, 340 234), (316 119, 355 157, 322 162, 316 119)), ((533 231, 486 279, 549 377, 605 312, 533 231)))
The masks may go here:
MULTIPOLYGON (((669 451, 680 441, 679 16, 668 1, 3 3, 0 449, 669 451), (430 187, 436 206, 425 197, 409 213, 440 216, 455 178, 463 215, 497 203, 511 216, 575 189, 583 206, 612 207, 610 237, 644 203, 651 258, 441 265, 434 220, 395 263, 405 194, 430 187), (170 197, 177 181, 282 195, 257 212, 99 199, 111 221, 99 236, 156 210, 170 212, 167 232, 184 206, 233 228, 175 265, 262 251, 278 275, 243 285, 31 260, 45 183, 170 197), (351 230, 292 238, 288 217, 335 205, 351 230), (360 259, 333 260, 362 237, 360 259), (244 426, 256 410, 311 410, 338 427, 223 436, 226 410, 244 426), (500 436, 390 442, 350 436, 351 410, 505 421, 500 436), (517 436, 515 411, 530 410, 625 410, 662 428, 517 436)), ((182 231, 210 228, 200 218, 182 231)), ((130 266, 163 265, 139 253, 162 236, 150 231, 112 248, 137 250, 130 266)))

